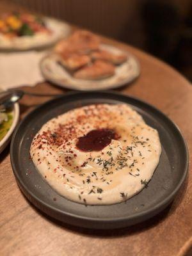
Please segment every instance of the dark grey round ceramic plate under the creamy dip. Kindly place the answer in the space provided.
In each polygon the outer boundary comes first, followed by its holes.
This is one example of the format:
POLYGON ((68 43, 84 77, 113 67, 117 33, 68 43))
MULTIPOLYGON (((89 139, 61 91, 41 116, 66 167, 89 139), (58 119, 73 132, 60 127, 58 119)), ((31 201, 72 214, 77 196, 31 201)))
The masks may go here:
POLYGON ((15 178, 32 204, 53 218, 87 228, 120 228, 151 218, 172 202, 188 172, 188 149, 177 126, 147 103, 114 92, 68 93, 36 108, 13 134, 10 154, 15 178), (148 188, 138 195, 126 203, 86 207, 58 195, 42 179, 29 159, 29 148, 33 136, 49 119, 98 102, 131 105, 148 125, 159 131, 162 154, 148 188))

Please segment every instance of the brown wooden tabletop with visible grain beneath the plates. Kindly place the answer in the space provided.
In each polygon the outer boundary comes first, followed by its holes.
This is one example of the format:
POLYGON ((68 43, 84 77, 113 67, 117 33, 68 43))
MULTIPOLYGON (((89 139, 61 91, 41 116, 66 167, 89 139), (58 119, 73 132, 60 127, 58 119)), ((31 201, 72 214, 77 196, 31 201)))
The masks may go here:
MULTIPOLYGON (((1 12, 2 6, 0 4, 1 12)), ((188 143, 191 162, 191 84, 162 61, 129 45, 106 38, 103 40, 130 51, 138 58, 141 65, 140 77, 118 91, 145 100, 172 118, 188 143)), ((67 92, 49 83, 23 89, 39 93, 67 92)), ((20 101, 21 117, 49 99, 24 96, 20 101)), ((19 190, 10 164, 9 146, 1 154, 0 163, 1 256, 176 256, 190 253, 187 251, 192 243, 191 164, 188 178, 178 195, 161 214, 134 227, 104 231, 72 227, 45 216, 19 190)))

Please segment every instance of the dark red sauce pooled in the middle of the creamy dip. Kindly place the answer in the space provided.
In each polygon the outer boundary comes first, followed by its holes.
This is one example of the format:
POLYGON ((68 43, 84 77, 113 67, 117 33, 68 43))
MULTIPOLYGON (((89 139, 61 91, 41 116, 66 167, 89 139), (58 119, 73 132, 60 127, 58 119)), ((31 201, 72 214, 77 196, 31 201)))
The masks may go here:
POLYGON ((111 143, 111 140, 118 139, 115 131, 111 129, 97 129, 79 137, 76 147, 84 152, 100 151, 111 143))

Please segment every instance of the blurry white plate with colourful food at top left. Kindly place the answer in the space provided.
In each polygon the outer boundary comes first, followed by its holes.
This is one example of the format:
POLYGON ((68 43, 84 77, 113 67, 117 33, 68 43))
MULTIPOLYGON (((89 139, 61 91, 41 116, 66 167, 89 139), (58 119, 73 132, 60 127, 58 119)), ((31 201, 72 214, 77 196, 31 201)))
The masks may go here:
POLYGON ((26 51, 48 47, 70 33, 70 26, 60 20, 44 17, 47 28, 52 31, 51 35, 20 36, 8 40, 0 34, 0 49, 6 51, 26 51))

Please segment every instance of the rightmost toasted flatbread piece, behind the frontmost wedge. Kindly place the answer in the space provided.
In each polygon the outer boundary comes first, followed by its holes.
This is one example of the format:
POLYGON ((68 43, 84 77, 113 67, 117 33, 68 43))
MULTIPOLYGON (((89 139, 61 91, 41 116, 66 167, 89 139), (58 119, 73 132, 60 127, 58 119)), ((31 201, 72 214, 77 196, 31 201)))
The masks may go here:
POLYGON ((93 60, 104 60, 113 63, 114 65, 120 65, 127 60, 126 54, 113 54, 109 51, 99 50, 92 52, 93 60))

